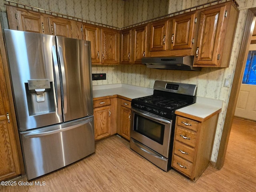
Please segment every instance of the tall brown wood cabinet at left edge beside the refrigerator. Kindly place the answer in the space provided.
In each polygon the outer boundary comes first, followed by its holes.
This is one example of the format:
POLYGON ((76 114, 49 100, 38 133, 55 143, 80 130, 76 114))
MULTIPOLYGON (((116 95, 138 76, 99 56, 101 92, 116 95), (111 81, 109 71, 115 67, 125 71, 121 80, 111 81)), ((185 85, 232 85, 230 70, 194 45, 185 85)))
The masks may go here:
MULTIPOLYGON (((1 28, 1 24, 0 24, 1 28)), ((21 174, 19 161, 19 140, 16 140, 15 114, 12 115, 12 103, 8 96, 10 83, 8 73, 4 75, 4 69, 7 69, 6 53, 4 50, 4 41, 2 31, 0 31, 0 181, 6 181, 21 174), (17 141, 17 144, 16 144, 17 141)), ((14 110, 13 110, 14 112, 14 110)))

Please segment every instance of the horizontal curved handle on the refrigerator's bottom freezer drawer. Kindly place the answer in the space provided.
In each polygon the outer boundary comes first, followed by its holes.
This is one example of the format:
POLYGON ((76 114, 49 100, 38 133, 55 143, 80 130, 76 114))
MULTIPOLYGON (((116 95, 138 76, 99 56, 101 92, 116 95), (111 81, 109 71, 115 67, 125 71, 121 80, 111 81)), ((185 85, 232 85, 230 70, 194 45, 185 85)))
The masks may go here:
POLYGON ((56 134, 56 133, 59 133, 59 132, 64 132, 64 131, 67 131, 67 130, 74 129, 76 127, 82 126, 84 124, 92 122, 92 120, 93 120, 93 118, 90 118, 88 120, 85 120, 84 122, 80 122, 78 124, 74 124, 72 126, 68 126, 66 128, 62 128, 62 129, 55 129, 55 128, 53 128, 52 130, 47 130, 45 132, 28 133, 28 134, 25 134, 24 137, 26 137, 26 138, 35 138, 35 137, 42 137, 42 136, 46 136, 46 135, 50 135, 50 134, 56 134))

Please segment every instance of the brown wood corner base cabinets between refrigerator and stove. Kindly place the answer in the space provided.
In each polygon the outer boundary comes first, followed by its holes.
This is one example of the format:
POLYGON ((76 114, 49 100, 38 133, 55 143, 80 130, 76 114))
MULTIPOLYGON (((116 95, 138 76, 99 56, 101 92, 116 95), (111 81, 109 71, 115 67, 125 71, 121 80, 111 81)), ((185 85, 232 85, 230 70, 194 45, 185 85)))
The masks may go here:
POLYGON ((95 140, 119 134, 130 140, 131 99, 123 96, 94 98, 95 140))

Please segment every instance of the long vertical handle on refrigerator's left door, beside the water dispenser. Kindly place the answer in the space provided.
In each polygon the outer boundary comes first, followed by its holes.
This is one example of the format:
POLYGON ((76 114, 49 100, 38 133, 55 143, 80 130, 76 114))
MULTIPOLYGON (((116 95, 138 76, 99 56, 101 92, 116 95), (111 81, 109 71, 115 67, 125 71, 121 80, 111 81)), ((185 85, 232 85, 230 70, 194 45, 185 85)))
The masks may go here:
POLYGON ((54 71, 55 71, 54 75, 55 75, 55 82, 56 82, 55 94, 56 94, 57 110, 58 110, 58 114, 61 115, 62 111, 61 111, 61 96, 60 96, 60 75, 59 75, 58 60, 57 60, 55 46, 52 46, 52 59, 53 59, 54 71))

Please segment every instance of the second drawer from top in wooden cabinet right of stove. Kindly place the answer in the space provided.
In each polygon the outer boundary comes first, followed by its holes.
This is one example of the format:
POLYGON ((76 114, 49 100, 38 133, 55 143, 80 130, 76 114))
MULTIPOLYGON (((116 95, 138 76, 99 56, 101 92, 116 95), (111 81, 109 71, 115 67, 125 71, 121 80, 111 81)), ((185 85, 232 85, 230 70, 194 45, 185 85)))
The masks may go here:
POLYGON ((188 129, 176 126, 175 140, 178 140, 184 144, 195 147, 196 146, 196 132, 188 129))

